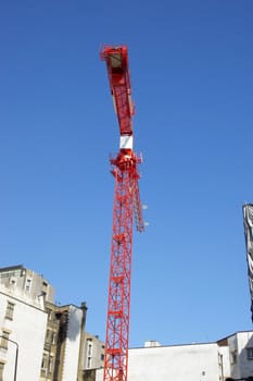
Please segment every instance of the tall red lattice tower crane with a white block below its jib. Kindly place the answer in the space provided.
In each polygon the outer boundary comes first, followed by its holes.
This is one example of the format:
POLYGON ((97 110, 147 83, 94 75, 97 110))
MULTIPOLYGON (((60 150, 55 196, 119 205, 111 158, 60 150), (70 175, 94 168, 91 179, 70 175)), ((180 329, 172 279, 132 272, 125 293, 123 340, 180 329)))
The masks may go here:
POLYGON ((126 46, 104 46, 101 60, 106 62, 110 88, 119 124, 119 151, 111 160, 115 177, 113 233, 106 318, 104 381, 127 381, 132 256, 132 219, 137 230, 144 229, 139 196, 138 164, 132 150, 132 115, 128 51, 126 46))

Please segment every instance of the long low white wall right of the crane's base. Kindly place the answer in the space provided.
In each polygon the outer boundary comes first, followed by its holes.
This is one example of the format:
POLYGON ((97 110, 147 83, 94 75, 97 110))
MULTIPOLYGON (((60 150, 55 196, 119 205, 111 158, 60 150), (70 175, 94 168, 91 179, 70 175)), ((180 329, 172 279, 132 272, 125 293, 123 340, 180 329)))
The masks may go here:
POLYGON ((219 381, 216 344, 129 351, 130 381, 219 381))

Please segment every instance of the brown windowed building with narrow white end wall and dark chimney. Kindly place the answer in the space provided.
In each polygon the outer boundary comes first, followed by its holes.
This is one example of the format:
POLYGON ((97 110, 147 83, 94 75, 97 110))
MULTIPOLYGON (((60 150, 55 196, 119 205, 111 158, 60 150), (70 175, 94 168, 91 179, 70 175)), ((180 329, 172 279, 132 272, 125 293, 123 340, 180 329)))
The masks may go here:
POLYGON ((80 307, 48 304, 47 311, 49 320, 40 380, 83 380, 86 304, 80 307))

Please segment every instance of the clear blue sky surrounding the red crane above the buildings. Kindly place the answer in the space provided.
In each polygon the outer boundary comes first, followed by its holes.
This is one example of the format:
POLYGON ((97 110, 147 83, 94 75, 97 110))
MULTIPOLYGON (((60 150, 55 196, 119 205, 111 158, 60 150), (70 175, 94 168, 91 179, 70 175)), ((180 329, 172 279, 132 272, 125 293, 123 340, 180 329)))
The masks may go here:
POLYGON ((105 336, 118 126, 103 44, 127 44, 149 228, 134 235, 130 346, 251 330, 253 2, 1 1, 1 267, 23 263, 105 336))

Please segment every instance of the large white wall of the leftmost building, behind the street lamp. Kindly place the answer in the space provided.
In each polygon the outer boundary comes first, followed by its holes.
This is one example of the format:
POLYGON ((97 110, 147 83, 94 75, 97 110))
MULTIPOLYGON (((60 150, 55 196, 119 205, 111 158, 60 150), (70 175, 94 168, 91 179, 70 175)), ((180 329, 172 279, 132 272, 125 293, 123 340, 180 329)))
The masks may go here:
MULTIPOLYGON (((26 295, 14 297, 15 292, 0 287, 0 334, 9 331, 9 339, 18 345, 18 381, 38 381, 47 329, 47 314, 41 310, 39 300, 26 295), (7 319, 8 302, 14 304, 13 319, 7 319)), ((8 349, 0 347, 0 360, 5 362, 3 381, 13 380, 16 345, 8 342, 8 349)))

